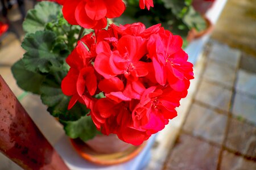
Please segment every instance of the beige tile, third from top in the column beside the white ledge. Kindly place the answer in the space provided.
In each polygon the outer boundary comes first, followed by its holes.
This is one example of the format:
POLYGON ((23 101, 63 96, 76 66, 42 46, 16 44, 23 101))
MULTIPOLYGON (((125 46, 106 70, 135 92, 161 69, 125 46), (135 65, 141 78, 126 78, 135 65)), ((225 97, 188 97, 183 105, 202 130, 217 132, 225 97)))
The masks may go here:
POLYGON ((231 90, 218 84, 209 83, 203 79, 195 99, 228 112, 231 96, 231 90))

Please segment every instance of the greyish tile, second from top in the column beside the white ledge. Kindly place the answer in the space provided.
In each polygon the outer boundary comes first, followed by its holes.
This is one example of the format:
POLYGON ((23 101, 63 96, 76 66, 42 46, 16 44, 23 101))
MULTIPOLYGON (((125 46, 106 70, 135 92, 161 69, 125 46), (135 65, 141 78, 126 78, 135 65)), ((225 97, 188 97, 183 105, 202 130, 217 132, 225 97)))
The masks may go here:
POLYGON ((223 63, 208 61, 203 75, 204 79, 221 83, 224 86, 233 87, 236 71, 223 63))

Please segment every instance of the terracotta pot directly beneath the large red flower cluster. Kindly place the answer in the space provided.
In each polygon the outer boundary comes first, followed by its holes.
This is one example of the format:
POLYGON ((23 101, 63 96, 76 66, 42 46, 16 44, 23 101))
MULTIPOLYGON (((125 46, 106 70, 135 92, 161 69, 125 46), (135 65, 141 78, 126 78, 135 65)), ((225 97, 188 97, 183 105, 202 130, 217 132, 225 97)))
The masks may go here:
POLYGON ((133 159, 144 146, 133 146, 123 142, 116 135, 97 135, 93 139, 83 142, 80 139, 71 139, 71 143, 77 153, 94 164, 113 165, 133 159))

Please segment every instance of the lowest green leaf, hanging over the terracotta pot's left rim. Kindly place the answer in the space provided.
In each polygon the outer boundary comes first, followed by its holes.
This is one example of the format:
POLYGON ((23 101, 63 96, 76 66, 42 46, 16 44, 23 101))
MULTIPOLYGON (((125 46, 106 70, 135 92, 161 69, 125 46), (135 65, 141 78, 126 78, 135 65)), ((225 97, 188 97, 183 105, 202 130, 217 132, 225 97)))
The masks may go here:
POLYGON ((96 126, 90 116, 83 116, 77 121, 61 121, 65 133, 71 138, 80 138, 82 141, 92 139, 97 133, 96 126))

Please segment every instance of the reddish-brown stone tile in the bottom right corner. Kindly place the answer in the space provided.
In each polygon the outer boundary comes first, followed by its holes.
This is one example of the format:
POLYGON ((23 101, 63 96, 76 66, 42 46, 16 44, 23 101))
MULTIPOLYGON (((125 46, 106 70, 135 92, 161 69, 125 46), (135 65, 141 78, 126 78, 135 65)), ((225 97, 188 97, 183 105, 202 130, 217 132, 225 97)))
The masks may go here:
POLYGON ((228 151, 224 151, 221 160, 221 170, 253 170, 256 169, 256 162, 247 160, 241 156, 234 155, 228 151))

